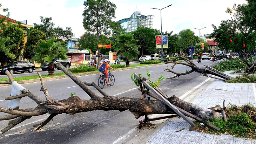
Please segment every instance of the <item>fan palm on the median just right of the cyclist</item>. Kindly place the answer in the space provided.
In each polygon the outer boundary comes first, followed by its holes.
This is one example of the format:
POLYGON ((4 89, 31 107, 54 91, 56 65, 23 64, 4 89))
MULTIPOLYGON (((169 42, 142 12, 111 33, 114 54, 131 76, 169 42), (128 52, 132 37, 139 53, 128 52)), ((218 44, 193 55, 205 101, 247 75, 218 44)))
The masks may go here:
POLYGON ((120 55, 119 58, 125 60, 126 67, 130 66, 130 60, 135 59, 140 54, 139 46, 136 45, 137 41, 131 33, 121 34, 117 37, 115 50, 118 52, 117 55, 120 55))

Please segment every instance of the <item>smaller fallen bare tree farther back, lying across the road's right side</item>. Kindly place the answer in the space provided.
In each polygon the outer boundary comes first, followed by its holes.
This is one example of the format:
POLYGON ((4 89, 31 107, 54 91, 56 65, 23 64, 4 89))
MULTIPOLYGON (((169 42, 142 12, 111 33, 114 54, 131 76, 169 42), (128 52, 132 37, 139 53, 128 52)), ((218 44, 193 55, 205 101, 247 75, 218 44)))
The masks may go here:
MULTIPOLYGON (((211 74, 211 75, 214 75, 214 76, 217 76, 217 77, 221 77, 223 79, 220 79, 220 78, 217 78, 217 79, 224 80, 224 81, 225 80, 233 79, 233 77, 231 77, 229 75, 226 75, 226 74, 222 73, 221 71, 218 71, 218 70, 216 70, 214 68, 211 68, 211 67, 208 67, 208 66, 206 66, 206 68, 199 68, 199 67, 196 66, 196 64, 194 64, 193 62, 189 61, 188 59, 186 59, 186 58, 184 58, 182 56, 177 56, 174 59, 171 59, 171 60, 169 60, 168 62, 165 62, 165 63, 166 64, 168 64, 168 63, 174 64, 173 66, 171 66, 171 68, 169 68, 169 66, 167 65, 167 69, 165 69, 165 70, 168 71, 168 72, 171 72, 173 74, 176 74, 175 76, 168 77, 167 79, 172 79, 172 78, 179 77, 179 76, 182 76, 182 75, 187 75, 187 74, 190 74, 190 73, 192 73, 194 71, 197 72, 197 73, 202 74, 203 76, 207 76, 207 77, 212 77, 212 76, 208 76, 207 74, 211 74), (177 60, 179 58, 183 59, 184 62, 186 62, 186 63, 175 61, 175 60, 177 60), (182 64, 182 65, 188 66, 188 67, 191 68, 191 70, 190 71, 186 71, 184 73, 177 73, 177 72, 171 70, 177 64, 182 64)), ((216 78, 216 77, 212 77, 212 78, 216 78)))

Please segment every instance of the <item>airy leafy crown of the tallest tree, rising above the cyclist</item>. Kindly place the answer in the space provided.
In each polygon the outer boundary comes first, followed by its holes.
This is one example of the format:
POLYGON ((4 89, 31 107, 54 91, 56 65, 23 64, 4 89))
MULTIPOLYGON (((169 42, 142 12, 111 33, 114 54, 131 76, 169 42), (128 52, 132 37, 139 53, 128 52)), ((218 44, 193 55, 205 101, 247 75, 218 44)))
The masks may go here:
POLYGON ((83 27, 88 32, 96 33, 97 39, 101 34, 110 35, 110 22, 115 18, 116 6, 108 0, 86 0, 83 5, 83 27))

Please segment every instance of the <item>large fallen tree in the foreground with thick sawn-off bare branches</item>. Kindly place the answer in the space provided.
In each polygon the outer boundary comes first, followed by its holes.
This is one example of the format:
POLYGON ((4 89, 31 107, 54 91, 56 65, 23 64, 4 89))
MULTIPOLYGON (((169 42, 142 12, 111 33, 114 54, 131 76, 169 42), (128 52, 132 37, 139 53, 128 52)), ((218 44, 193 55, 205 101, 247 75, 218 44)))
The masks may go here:
MULTIPOLYGON (((29 119, 33 116, 39 116, 49 113, 50 116, 42 123, 33 125, 35 127, 34 130, 39 130, 43 126, 45 126, 51 119, 54 118, 54 116, 66 113, 69 115, 74 115, 79 112, 87 112, 87 111, 93 111, 93 110, 119 110, 119 111, 125 111, 129 110, 135 118, 139 118, 144 115, 149 114, 176 114, 175 111, 173 111, 170 107, 167 105, 161 103, 157 100, 145 100, 142 98, 130 98, 130 97, 114 97, 109 96, 105 91, 103 91, 101 88, 99 88, 95 83, 87 83, 82 82, 74 76, 68 69, 66 69, 62 64, 57 63, 56 67, 60 68, 65 74, 67 74, 76 84, 79 85, 80 88, 82 88, 86 94, 90 96, 90 100, 81 100, 78 96, 72 96, 69 98, 66 98, 64 100, 56 100, 50 97, 49 92, 44 86, 44 83, 42 81, 42 77, 40 73, 38 73, 39 78, 41 80, 42 87, 40 88, 40 91, 43 91, 45 94, 46 100, 42 100, 39 96, 36 96, 31 92, 29 89, 24 88, 19 95, 14 95, 10 97, 6 97, 6 100, 15 100, 17 98, 28 96, 31 98, 34 102, 38 104, 35 108, 0 108, 1 112, 7 113, 9 115, 0 116, 0 120, 10 120, 8 126, 1 130, 2 133, 5 133, 9 129, 13 128, 15 125, 25 121, 26 119, 29 119), (102 95, 103 97, 97 95, 94 91, 92 91, 88 86, 95 87, 102 95)), ((1 82, 3 83, 9 83, 14 84, 16 83, 11 74, 7 71, 6 74, 9 77, 9 81, 1 82)), ((144 79, 144 78, 141 78, 144 79)), ((1 84, 0 83, 0 84, 1 84)), ((18 83, 16 83, 18 84, 18 83)), ((19 84, 18 84, 19 85, 19 84)), ((21 86, 22 87, 22 86, 21 86)), ((145 86, 140 83, 139 90, 141 92, 138 92, 138 95, 144 96, 149 95, 152 96, 154 94, 150 93, 148 89, 144 89, 145 86)), ((160 92, 160 91, 159 91, 160 92)), ((163 95, 163 94, 162 94, 163 95)), ((195 117, 202 119, 203 121, 206 119, 214 119, 223 118, 223 112, 224 110, 220 108, 215 108, 213 110, 200 107, 198 105, 188 103, 186 101, 183 101, 176 97, 175 95, 170 96, 169 98, 166 97, 166 99, 175 107, 178 109, 184 110, 184 113, 189 112, 190 114, 195 115, 195 117)), ((224 106, 223 106, 224 107, 224 106)), ((225 107, 224 107, 225 108, 225 107)), ((205 121, 204 121, 205 122, 205 121)))

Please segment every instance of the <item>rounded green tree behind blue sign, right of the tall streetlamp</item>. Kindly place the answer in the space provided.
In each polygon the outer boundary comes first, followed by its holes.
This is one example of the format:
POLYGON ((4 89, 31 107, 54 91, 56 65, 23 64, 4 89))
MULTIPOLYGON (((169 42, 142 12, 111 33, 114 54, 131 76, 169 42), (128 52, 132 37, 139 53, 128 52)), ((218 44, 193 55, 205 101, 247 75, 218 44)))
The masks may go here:
POLYGON ((190 29, 183 29, 179 33, 179 39, 177 40, 178 47, 180 48, 181 52, 188 54, 188 48, 193 46, 193 42, 195 38, 193 37, 195 33, 192 32, 190 29))

